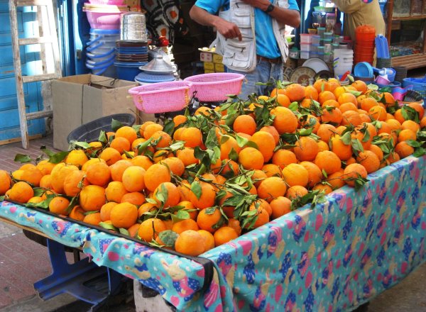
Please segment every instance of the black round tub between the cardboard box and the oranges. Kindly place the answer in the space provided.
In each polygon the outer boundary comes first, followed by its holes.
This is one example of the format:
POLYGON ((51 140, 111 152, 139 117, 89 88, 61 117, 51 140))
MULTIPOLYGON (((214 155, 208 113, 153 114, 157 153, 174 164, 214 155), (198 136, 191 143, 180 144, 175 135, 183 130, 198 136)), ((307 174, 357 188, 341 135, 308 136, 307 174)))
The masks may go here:
POLYGON ((89 121, 89 123, 84 123, 82 126, 79 126, 72 130, 67 136, 67 142, 71 141, 78 142, 94 142, 99 138, 99 132, 101 130, 105 132, 112 131, 111 123, 112 120, 119 121, 124 126, 133 126, 136 118, 133 113, 116 113, 114 115, 104 116, 94 121, 89 121))

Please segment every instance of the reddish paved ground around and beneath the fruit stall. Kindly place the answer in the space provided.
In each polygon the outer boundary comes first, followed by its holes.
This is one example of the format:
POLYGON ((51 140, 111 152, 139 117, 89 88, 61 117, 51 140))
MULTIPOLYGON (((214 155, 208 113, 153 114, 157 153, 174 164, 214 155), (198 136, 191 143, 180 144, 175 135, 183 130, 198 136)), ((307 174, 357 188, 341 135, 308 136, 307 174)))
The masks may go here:
MULTIPOLYGON (((21 143, 0 146, 0 169, 13 171, 21 166, 13 162, 17 153, 40 155, 40 146, 53 149, 53 137, 30 141, 30 149, 23 150, 21 143)), ((69 253, 68 260, 72 261, 69 253)), ((88 311, 88 303, 68 294, 61 294, 48 301, 39 299, 33 284, 51 274, 46 247, 29 240, 20 228, 0 222, 0 312, 80 312, 88 311)), ((369 312, 426 312, 426 263, 418 267, 402 282, 373 299, 369 312)), ((361 309, 360 309, 361 310, 361 309)), ((98 311, 134 312, 130 297, 119 305, 100 308, 98 311)))

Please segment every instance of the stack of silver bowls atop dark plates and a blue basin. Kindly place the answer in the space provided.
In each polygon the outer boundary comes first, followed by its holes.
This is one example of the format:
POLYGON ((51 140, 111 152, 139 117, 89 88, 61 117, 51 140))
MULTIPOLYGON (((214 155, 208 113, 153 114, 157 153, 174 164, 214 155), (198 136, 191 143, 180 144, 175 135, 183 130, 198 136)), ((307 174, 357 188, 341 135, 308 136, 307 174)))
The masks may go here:
POLYGON ((120 18, 120 40, 116 40, 114 66, 119 79, 134 81, 139 67, 148 62, 145 14, 127 12, 120 18))

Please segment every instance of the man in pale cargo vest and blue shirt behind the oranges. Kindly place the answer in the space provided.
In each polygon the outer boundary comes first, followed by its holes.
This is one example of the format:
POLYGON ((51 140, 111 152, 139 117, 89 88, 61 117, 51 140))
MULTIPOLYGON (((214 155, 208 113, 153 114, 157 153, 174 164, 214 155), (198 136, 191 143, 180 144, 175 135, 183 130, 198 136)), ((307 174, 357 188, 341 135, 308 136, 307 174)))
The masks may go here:
POLYGON ((246 75, 242 99, 251 93, 266 94, 271 78, 283 79, 288 57, 285 25, 300 24, 296 0, 197 0, 190 11, 193 20, 217 29, 216 52, 230 72, 246 75), (217 15, 217 13, 219 13, 217 15))

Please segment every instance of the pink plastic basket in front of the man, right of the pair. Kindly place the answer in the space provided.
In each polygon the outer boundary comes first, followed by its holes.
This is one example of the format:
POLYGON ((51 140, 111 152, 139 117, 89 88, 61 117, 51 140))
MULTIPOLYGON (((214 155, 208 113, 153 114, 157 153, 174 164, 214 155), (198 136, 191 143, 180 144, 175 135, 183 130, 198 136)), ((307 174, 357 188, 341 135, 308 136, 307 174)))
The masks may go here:
POLYGON ((225 101, 226 95, 239 94, 243 84, 244 74, 233 72, 215 72, 212 74, 197 74, 183 79, 191 82, 191 92, 198 101, 225 101))

